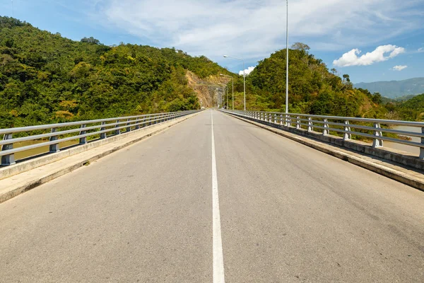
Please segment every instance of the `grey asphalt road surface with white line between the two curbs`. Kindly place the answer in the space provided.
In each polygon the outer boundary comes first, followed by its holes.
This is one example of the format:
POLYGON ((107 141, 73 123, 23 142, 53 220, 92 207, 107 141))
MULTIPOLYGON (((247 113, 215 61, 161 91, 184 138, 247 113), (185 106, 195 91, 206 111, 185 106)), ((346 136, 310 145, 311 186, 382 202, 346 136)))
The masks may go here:
POLYGON ((0 282, 424 282, 423 192, 216 110, 0 204, 0 227, 0 282))

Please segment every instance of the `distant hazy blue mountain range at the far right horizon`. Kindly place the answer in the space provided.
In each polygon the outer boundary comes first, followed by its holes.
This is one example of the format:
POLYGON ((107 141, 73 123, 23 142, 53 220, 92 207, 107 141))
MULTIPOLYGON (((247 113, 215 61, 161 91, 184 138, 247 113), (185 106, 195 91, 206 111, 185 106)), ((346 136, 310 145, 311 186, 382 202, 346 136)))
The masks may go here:
POLYGON ((417 95, 424 93, 424 78, 404 81, 375 81, 373 83, 355 83, 355 88, 364 88, 370 93, 380 93, 388 98, 417 95))

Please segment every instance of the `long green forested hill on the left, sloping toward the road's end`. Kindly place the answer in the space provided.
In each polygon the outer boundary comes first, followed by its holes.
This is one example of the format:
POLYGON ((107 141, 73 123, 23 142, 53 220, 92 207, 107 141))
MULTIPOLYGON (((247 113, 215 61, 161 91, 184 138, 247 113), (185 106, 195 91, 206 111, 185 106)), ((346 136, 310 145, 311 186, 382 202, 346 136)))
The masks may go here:
POLYGON ((220 73, 231 74, 174 48, 77 42, 0 17, 0 128, 196 109, 213 93, 187 74, 207 84, 220 73))

